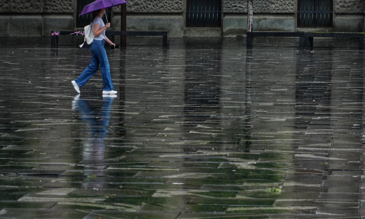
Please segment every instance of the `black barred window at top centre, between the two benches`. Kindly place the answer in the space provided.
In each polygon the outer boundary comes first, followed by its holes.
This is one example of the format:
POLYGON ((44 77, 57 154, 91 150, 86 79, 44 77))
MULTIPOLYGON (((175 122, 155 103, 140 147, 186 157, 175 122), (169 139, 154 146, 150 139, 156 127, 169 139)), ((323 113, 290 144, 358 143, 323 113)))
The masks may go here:
POLYGON ((187 0, 186 27, 221 27, 222 0, 187 0))

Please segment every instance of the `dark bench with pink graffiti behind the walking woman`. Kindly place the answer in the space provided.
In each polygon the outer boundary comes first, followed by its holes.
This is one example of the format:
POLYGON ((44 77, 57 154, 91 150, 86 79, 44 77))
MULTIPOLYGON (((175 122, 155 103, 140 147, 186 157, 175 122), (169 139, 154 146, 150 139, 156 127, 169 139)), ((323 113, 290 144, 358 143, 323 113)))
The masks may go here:
MULTIPOLYGON (((162 36, 162 46, 169 46, 169 31, 106 31, 105 35, 108 38, 114 36, 162 36)), ((84 36, 84 31, 51 31, 51 48, 58 48, 58 36, 84 36)))

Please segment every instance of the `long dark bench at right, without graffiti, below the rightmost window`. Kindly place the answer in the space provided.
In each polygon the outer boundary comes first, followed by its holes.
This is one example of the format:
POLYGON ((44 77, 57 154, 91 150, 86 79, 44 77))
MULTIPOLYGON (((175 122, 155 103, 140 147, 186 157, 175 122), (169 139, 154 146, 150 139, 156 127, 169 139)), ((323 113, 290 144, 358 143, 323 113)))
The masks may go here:
POLYGON ((314 37, 328 38, 358 38, 359 48, 364 49, 364 34, 353 32, 266 32, 253 31, 247 32, 246 47, 252 48, 253 37, 299 37, 300 48, 313 47, 314 37))

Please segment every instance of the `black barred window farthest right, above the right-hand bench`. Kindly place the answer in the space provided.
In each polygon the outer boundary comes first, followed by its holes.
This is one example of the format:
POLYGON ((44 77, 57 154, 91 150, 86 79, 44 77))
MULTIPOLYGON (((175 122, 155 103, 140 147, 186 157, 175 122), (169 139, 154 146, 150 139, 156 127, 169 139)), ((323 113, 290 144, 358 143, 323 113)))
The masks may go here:
POLYGON ((332 27, 333 0, 299 0, 298 27, 332 27))

